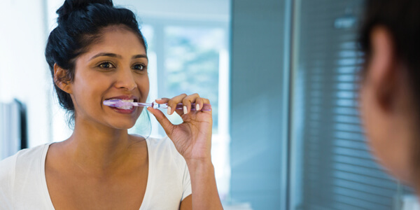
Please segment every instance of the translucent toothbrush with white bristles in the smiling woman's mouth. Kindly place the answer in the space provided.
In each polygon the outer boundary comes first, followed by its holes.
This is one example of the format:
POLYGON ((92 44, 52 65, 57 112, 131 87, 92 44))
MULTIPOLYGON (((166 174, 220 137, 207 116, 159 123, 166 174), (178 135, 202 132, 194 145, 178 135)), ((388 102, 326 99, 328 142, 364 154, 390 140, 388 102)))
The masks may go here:
MULTIPOLYGON (((121 99, 111 99, 104 101, 105 106, 111 107, 124 107, 124 106, 151 106, 153 109, 167 109, 168 104, 152 103, 139 103, 139 102, 124 102, 121 99)), ((191 104, 191 111, 195 111, 195 104, 191 104)), ((124 107, 125 108, 125 107, 124 107)), ((123 108, 123 109, 124 109, 123 108)), ((130 108, 131 109, 131 108, 130 108)), ((183 110, 183 104, 177 104, 176 109, 183 110)), ((203 104, 201 111, 211 111, 211 104, 203 104)))

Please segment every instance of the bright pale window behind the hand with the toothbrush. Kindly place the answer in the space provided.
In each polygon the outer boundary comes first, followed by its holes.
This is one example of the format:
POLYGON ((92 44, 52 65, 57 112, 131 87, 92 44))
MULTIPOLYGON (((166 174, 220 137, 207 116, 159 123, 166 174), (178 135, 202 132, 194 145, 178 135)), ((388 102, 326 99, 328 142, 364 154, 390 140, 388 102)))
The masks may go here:
MULTIPOLYGON (((226 197, 230 180, 227 27, 180 22, 143 25, 141 31, 148 43, 151 81, 148 102, 160 97, 196 92, 210 100, 214 118, 212 151, 217 153, 212 156, 219 193, 221 197, 226 197)), ((182 123, 176 113, 167 117, 174 124, 182 123)), ((157 120, 146 112, 142 113, 130 132, 165 136, 157 120)))

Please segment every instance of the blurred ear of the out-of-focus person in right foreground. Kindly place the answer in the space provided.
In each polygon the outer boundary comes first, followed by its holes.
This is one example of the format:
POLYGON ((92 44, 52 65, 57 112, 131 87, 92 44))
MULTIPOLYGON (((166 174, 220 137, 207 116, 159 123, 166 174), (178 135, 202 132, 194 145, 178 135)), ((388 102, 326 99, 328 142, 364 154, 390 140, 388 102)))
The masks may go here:
POLYGON ((393 109, 398 97, 398 84, 402 71, 395 56, 393 38, 385 27, 374 28, 370 34, 372 57, 367 77, 374 97, 384 111, 393 109))

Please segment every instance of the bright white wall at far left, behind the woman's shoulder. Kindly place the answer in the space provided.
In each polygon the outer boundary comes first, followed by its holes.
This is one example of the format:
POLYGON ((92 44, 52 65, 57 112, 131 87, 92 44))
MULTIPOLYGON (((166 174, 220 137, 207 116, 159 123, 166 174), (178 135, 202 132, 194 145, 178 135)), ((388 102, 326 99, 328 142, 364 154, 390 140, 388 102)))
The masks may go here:
POLYGON ((3 0, 0 7, 0 101, 27 105, 29 146, 51 141, 44 6, 43 0, 3 0))

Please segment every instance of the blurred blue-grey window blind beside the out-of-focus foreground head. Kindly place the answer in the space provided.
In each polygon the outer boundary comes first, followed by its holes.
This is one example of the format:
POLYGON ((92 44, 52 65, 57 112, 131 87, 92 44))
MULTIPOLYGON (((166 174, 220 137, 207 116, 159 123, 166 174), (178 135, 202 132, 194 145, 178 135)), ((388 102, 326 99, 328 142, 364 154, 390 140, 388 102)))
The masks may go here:
POLYGON ((298 6, 294 113, 302 160, 295 209, 394 209, 400 186, 370 154, 358 112, 363 1, 302 0, 298 6))

